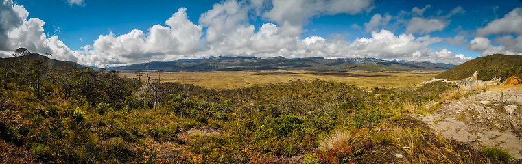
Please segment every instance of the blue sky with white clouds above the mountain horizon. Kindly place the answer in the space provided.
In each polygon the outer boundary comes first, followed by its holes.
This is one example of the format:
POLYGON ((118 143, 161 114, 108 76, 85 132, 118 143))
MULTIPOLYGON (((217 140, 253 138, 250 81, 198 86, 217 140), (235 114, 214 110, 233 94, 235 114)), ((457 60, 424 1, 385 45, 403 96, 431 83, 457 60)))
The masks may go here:
POLYGON ((522 1, 0 0, 0 57, 110 67, 217 56, 462 64, 522 55, 522 1))

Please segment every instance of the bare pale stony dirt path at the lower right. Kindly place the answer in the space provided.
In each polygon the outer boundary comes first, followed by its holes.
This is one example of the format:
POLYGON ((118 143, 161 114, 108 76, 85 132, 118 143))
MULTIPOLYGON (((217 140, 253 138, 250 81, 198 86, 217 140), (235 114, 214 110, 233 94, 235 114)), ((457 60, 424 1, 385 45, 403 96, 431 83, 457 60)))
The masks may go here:
POLYGON ((429 115, 420 115, 444 137, 477 146, 507 148, 522 159, 522 86, 495 86, 447 100, 429 115))

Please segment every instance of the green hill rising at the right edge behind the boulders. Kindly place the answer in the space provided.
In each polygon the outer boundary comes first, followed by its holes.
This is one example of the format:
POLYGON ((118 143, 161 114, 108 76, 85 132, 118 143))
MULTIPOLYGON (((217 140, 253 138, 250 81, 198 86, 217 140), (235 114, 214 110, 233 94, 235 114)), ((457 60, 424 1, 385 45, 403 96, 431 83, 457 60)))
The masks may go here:
POLYGON ((479 80, 490 80, 495 76, 506 79, 522 73, 522 55, 495 54, 478 57, 444 71, 436 78, 460 80, 471 77, 475 71, 479 71, 479 80))

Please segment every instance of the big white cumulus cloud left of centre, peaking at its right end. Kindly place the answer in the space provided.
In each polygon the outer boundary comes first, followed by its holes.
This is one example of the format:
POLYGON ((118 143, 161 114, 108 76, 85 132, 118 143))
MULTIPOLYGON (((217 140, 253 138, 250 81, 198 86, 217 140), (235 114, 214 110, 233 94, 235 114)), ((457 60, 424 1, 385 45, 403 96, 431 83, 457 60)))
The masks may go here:
POLYGON ((150 60, 163 60, 168 55, 187 57, 199 49, 202 27, 187 18, 186 8, 179 8, 165 25, 154 25, 145 34, 141 30, 116 36, 100 35, 93 46, 85 46, 86 55, 95 55, 96 66, 117 66, 150 60))

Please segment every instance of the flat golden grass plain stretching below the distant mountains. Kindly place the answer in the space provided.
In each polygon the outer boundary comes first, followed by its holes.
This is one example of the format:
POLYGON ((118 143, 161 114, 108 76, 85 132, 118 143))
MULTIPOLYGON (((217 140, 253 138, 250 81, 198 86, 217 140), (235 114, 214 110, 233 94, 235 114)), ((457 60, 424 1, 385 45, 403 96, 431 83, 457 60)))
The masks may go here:
MULTIPOLYGON (((285 83, 288 81, 313 81, 316 79, 355 85, 357 87, 407 87, 434 78, 442 71, 399 71, 399 72, 314 72, 302 70, 276 71, 213 71, 213 72, 161 72, 161 82, 190 83, 214 89, 234 89, 285 83)), ((121 72, 121 76, 138 78, 134 72, 121 72)), ((145 73, 141 80, 146 80, 145 73)), ((150 72, 151 79, 158 79, 158 72, 150 72)))

